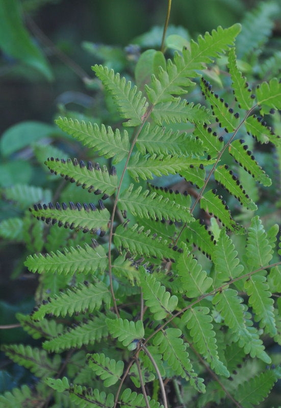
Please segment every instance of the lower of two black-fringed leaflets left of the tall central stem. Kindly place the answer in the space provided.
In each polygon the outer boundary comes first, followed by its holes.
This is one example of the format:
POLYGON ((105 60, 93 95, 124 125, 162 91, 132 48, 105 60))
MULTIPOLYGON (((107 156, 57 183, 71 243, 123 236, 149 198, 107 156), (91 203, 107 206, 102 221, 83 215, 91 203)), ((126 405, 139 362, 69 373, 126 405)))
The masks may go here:
POLYGON ((34 205, 34 208, 30 208, 30 212, 38 220, 45 221, 46 224, 52 221, 52 224, 58 222, 59 226, 65 228, 70 228, 70 230, 81 231, 84 233, 90 232, 91 234, 96 234, 100 228, 100 236, 104 236, 108 228, 108 222, 110 218, 109 211, 105 208, 103 201, 98 200, 100 211, 90 203, 89 206, 80 202, 76 205, 72 201, 69 202, 69 207, 62 203, 62 208, 59 203, 57 203, 56 208, 53 206, 52 202, 49 203, 48 207, 44 204, 43 208, 41 204, 34 205))

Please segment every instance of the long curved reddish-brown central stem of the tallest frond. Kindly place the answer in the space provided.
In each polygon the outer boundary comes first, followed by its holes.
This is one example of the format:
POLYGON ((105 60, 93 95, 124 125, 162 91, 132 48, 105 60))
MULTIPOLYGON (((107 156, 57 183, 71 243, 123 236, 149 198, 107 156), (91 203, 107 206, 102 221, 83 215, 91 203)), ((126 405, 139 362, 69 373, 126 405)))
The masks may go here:
POLYGON ((123 181, 123 178, 124 178, 124 175, 125 175, 126 168, 127 168, 128 163, 129 163, 130 157, 132 155, 133 148, 134 148, 134 146, 136 144, 136 141, 137 141, 137 138, 138 138, 138 136, 139 136, 139 134, 140 134, 146 120, 150 116, 150 113, 151 113, 153 108, 154 108, 154 105, 152 105, 151 108, 149 109, 149 111, 146 112, 146 114, 145 114, 145 116, 143 118, 143 121, 142 121, 142 123, 141 123, 141 125, 139 127, 139 130, 136 133, 136 136, 135 136, 135 138, 133 140, 133 143, 132 143, 131 148, 129 150, 129 154, 127 156, 126 163, 124 165, 123 172, 121 174, 121 178, 120 178, 120 182, 119 182, 119 185, 118 185, 118 188, 117 188, 117 193, 116 193, 116 197, 115 197, 115 201, 114 201, 114 205, 113 205, 113 210, 112 210, 112 216, 111 216, 111 222, 110 222, 110 232, 109 232, 109 245, 108 245, 108 264, 109 264, 108 267, 109 267, 110 291, 111 291, 111 295, 112 295, 112 298, 113 298, 115 313, 116 313, 118 318, 120 317, 120 315, 119 315, 119 312, 118 312, 117 303, 116 303, 116 299, 115 299, 115 296, 114 296, 113 284, 112 284, 111 243, 112 243, 112 237, 113 237, 113 221, 114 221, 114 216, 115 216, 115 212, 116 212, 116 208, 117 208, 117 201, 118 201, 122 181, 123 181))

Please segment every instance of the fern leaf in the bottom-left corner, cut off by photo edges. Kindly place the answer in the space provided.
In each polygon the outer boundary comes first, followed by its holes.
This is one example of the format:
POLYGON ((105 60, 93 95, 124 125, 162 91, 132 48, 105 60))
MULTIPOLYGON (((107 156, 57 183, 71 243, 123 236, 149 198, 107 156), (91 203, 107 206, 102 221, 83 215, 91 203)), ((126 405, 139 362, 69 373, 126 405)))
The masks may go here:
MULTIPOLYGON (((45 398, 42 398, 44 402, 45 398)), ((13 388, 12 392, 6 391, 3 395, 0 395, 0 406, 3 408, 22 408, 28 406, 32 408, 35 403, 38 406, 38 400, 34 401, 31 389, 28 386, 22 386, 21 388, 13 388)))

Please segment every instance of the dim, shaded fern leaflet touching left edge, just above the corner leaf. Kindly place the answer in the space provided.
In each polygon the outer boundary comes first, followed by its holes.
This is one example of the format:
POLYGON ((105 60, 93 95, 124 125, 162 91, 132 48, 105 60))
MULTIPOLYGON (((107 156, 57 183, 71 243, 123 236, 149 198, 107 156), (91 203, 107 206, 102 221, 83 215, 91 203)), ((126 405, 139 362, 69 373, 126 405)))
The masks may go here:
POLYGON ((40 378, 54 375, 61 363, 59 356, 50 361, 45 350, 24 346, 23 344, 3 345, 1 350, 15 363, 28 368, 40 378))

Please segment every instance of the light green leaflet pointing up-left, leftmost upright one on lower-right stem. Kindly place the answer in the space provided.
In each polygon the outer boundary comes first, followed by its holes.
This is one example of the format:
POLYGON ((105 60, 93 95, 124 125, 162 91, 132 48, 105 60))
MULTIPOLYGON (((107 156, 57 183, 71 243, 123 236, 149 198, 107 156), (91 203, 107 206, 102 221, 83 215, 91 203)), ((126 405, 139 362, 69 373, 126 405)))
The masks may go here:
POLYGON ((154 318, 161 320, 171 315, 178 302, 177 296, 171 296, 165 290, 165 286, 161 286, 161 283, 153 275, 147 273, 143 267, 140 267, 139 272, 143 298, 151 313, 154 314, 154 318))

